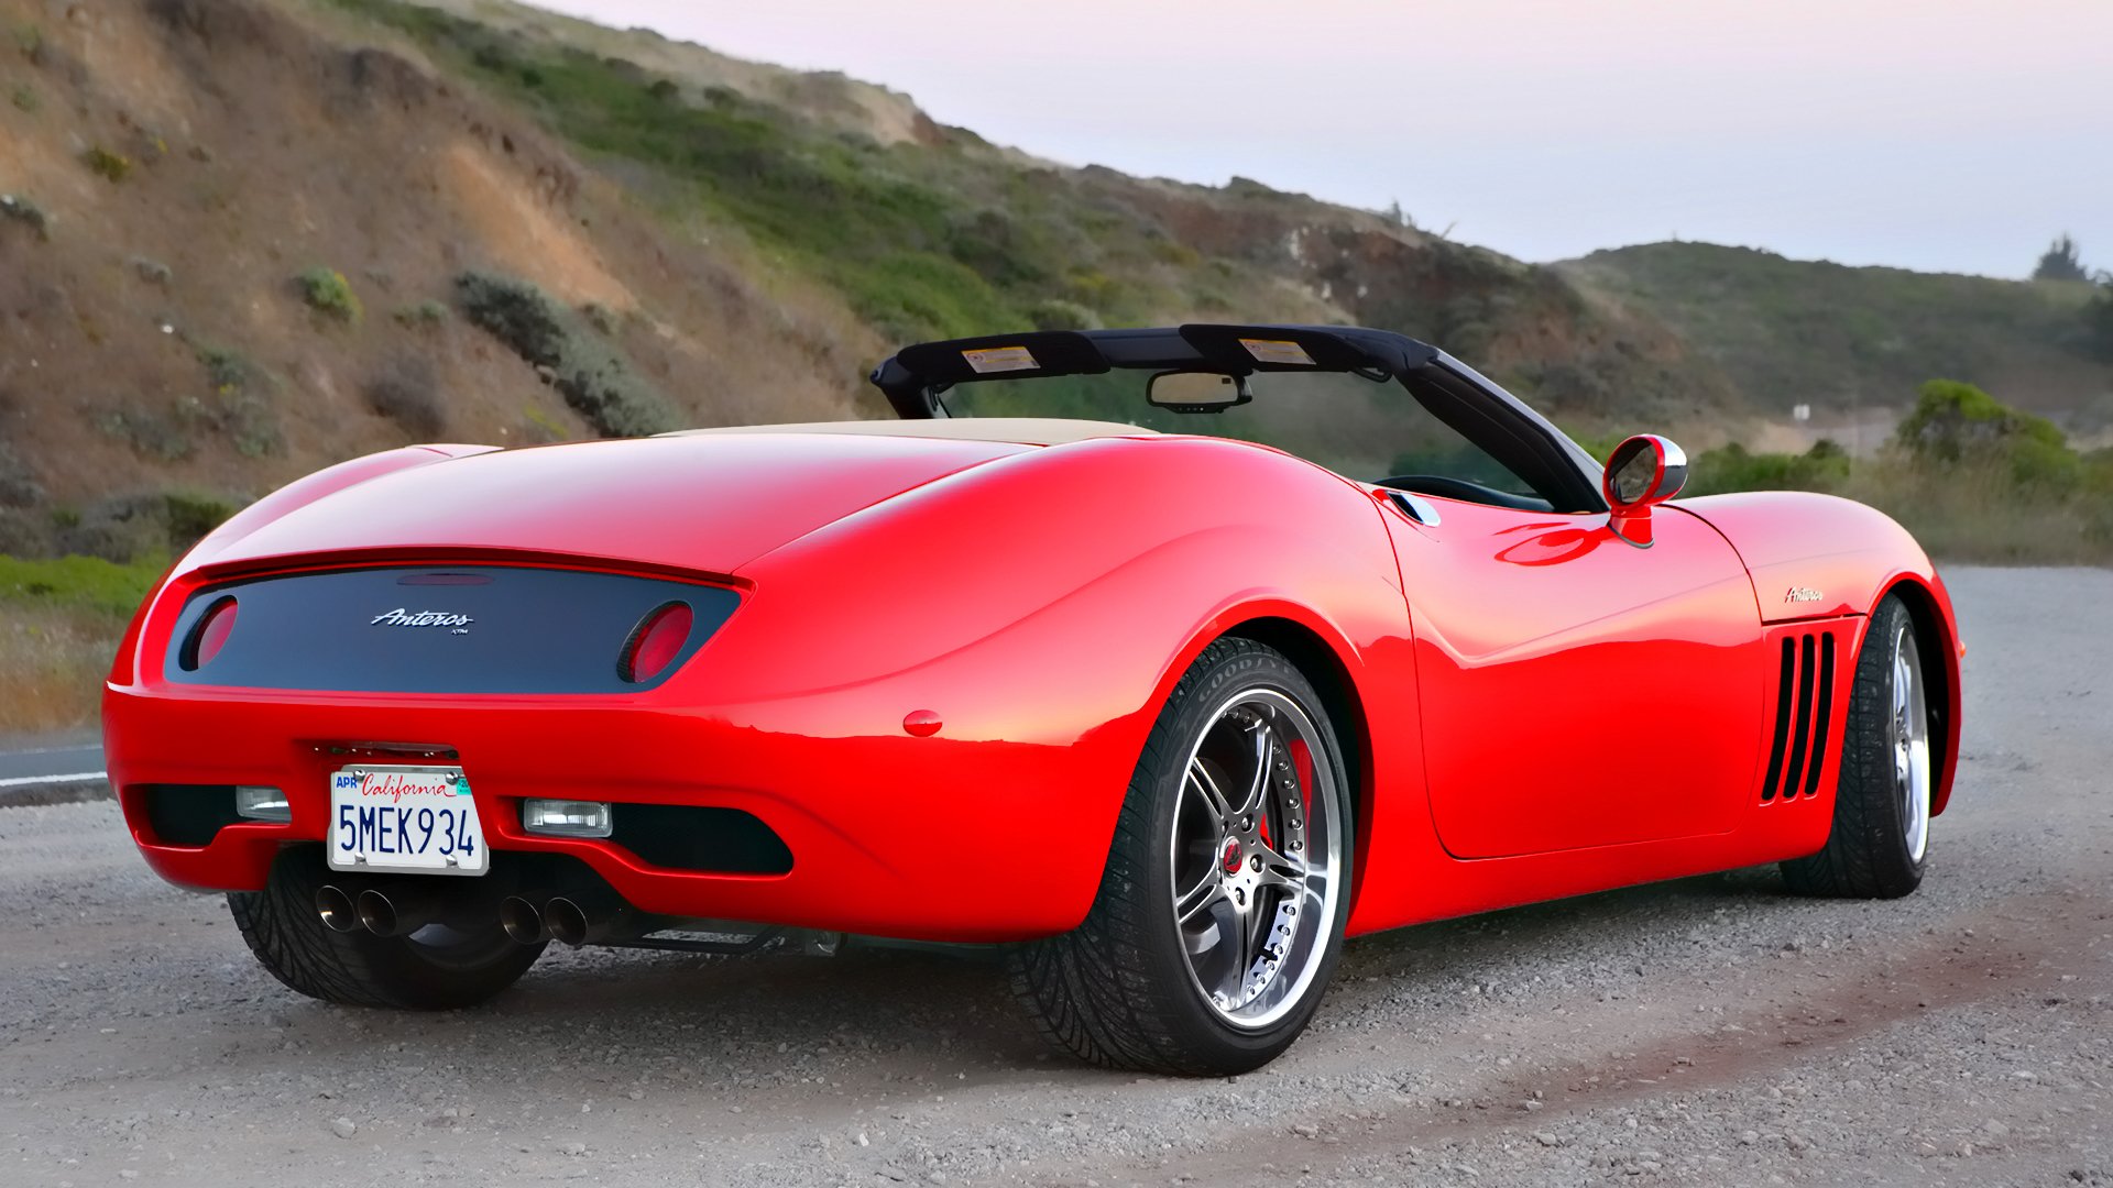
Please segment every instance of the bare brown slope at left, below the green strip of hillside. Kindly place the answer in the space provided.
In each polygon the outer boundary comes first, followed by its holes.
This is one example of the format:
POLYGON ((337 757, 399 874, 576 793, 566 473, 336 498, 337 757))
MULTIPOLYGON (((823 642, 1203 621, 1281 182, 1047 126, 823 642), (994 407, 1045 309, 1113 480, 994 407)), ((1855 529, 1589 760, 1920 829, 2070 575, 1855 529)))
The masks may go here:
POLYGON ((127 560, 412 440, 592 435, 463 317, 530 281, 676 423, 877 404, 828 287, 298 6, 0 0, 0 554, 127 560))

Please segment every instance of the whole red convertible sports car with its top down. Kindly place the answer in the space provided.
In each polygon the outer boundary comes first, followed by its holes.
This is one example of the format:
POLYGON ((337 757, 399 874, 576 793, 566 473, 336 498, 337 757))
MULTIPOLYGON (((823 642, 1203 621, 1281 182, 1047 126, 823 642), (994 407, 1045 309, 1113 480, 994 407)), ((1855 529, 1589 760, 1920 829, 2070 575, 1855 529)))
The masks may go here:
POLYGON ((332 1002, 478 1002, 551 939, 1004 943, 1052 1042, 1179 1074, 1285 1051, 1344 936, 1923 877, 1959 636, 1878 512, 1671 501, 1671 442, 1602 467, 1378 330, 873 383, 896 421, 412 446, 241 512, 110 674, 142 854, 332 1002))

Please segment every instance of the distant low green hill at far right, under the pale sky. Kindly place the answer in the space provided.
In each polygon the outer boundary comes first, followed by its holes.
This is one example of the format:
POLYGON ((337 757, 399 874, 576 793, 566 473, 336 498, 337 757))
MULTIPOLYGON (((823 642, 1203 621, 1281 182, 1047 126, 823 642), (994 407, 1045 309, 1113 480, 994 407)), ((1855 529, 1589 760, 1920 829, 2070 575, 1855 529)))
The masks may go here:
POLYGON ((1946 376, 2079 429, 2113 421, 2113 368, 2086 349, 2086 283, 1847 268, 1712 243, 1593 252, 1557 268, 1669 323, 1764 414, 1904 406, 1946 376))

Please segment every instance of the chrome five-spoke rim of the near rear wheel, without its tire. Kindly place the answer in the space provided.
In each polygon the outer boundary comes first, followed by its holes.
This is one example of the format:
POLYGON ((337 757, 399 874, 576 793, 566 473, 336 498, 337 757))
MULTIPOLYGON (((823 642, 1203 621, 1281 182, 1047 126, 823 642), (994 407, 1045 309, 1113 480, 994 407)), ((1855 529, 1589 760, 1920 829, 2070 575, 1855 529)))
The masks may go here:
POLYGON ((1221 704, 1175 803, 1175 928, 1219 1019, 1268 1027, 1310 989, 1342 894, 1338 782, 1314 721, 1274 689, 1221 704))

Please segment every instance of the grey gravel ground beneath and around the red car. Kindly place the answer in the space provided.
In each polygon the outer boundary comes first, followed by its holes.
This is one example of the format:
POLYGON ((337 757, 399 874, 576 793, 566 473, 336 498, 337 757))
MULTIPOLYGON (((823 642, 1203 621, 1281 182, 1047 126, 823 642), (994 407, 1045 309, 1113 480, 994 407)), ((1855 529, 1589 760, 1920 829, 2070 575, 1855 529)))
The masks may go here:
POLYGON ((2113 573, 1950 581, 1919 894, 1758 869, 1371 936, 1232 1080, 1052 1059, 949 953, 551 951, 480 1010, 321 1006, 116 805, 0 810, 0 1184, 2113 1186, 2113 573))

